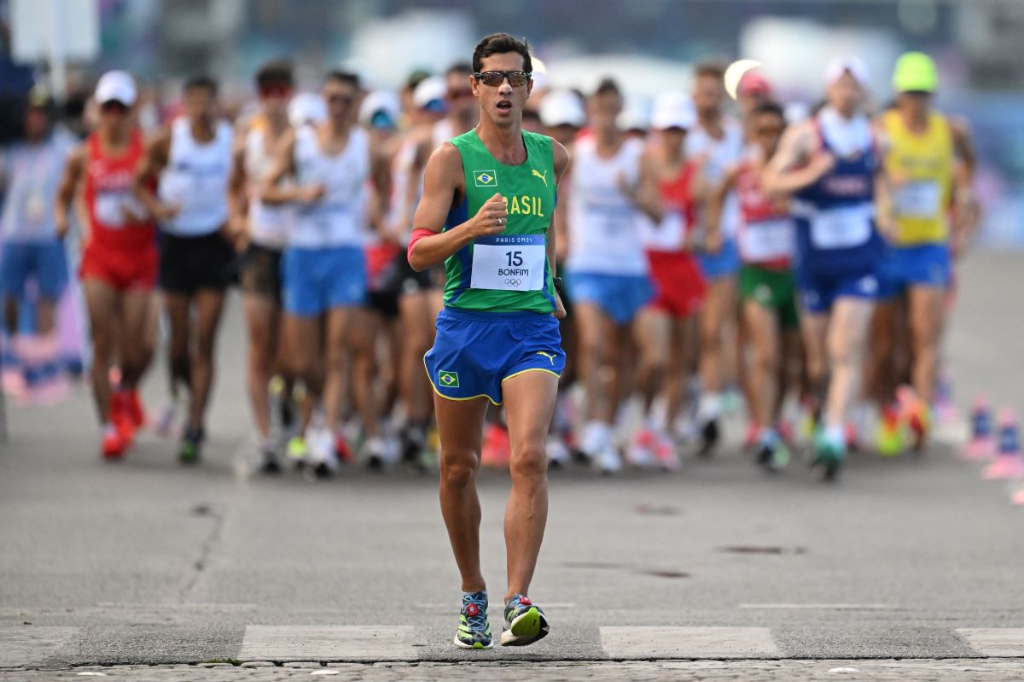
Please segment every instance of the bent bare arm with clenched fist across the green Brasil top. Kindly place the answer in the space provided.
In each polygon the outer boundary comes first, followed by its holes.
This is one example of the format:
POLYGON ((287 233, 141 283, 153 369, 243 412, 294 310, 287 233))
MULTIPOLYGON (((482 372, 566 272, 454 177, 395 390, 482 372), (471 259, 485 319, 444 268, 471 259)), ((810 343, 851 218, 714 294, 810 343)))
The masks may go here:
POLYGON ((505 198, 496 194, 472 218, 442 232, 456 196, 465 193, 463 184, 462 157, 455 145, 445 142, 430 155, 423 174, 423 197, 413 226, 433 233, 410 246, 409 264, 414 270, 422 271, 444 262, 478 237, 501 235, 508 226, 505 198))

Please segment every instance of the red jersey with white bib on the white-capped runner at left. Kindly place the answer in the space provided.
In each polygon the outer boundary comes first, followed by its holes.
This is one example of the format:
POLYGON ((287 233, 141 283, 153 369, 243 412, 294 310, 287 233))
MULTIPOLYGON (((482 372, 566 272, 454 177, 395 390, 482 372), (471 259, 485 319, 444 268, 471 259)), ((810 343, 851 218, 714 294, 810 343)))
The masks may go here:
POLYGON ((144 215, 131 194, 135 169, 142 159, 142 133, 132 131, 128 150, 119 157, 106 156, 96 133, 86 139, 85 206, 89 215, 89 241, 97 247, 119 250, 156 244, 157 225, 126 224, 124 211, 144 215))

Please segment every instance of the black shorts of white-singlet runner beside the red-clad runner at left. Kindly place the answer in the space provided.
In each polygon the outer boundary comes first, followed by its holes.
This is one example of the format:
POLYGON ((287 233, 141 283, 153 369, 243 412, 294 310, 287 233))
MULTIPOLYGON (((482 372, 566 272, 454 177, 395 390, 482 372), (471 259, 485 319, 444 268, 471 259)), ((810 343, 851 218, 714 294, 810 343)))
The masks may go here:
POLYGON ((234 249, 220 231, 202 237, 164 233, 160 239, 160 288, 172 294, 227 289, 234 279, 234 249))

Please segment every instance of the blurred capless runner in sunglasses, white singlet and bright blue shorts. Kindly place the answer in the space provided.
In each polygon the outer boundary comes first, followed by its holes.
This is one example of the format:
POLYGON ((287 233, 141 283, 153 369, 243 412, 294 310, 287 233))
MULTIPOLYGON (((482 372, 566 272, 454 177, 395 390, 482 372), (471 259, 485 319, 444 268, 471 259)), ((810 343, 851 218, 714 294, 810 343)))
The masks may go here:
MULTIPOLYGON (((302 463, 308 454, 319 475, 338 467, 345 358, 354 356, 354 372, 372 368, 367 355, 373 352, 373 338, 362 324, 371 150, 367 132, 354 125, 358 92, 357 76, 328 75, 323 87, 327 119, 285 137, 261 193, 267 204, 296 205, 282 261, 285 348, 289 374, 305 383, 319 412, 303 416, 301 435, 289 442, 288 457, 302 463), (288 177, 294 184, 283 183, 288 177)), ((381 455, 383 442, 376 400, 369 393, 356 395, 356 401, 368 456, 374 457, 381 455)))

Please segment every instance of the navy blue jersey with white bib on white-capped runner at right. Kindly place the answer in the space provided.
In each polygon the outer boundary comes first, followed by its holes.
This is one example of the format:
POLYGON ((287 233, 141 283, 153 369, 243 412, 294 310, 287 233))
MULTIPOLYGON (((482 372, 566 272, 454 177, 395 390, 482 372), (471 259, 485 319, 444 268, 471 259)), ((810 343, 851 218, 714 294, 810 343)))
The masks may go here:
POLYGON ((874 224, 878 150, 870 140, 859 152, 843 157, 829 144, 818 119, 814 129, 821 150, 836 156, 836 166, 795 197, 797 268, 834 275, 873 271, 883 254, 874 224))

